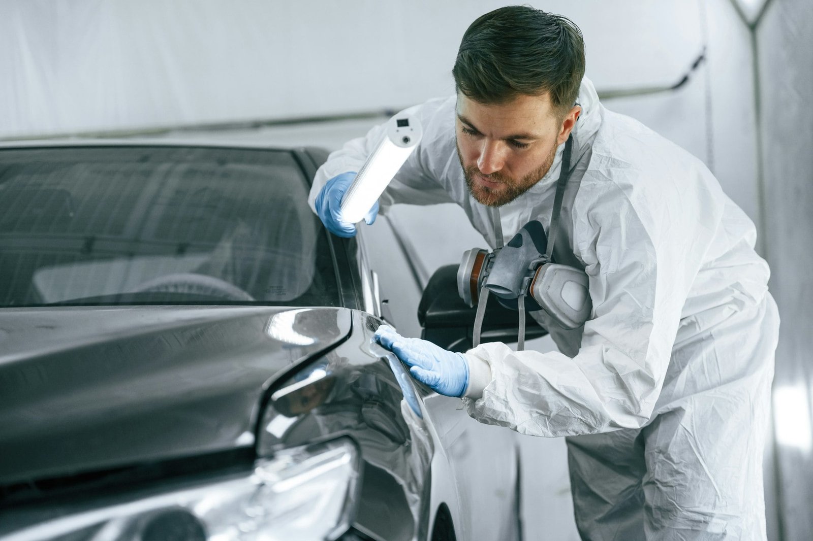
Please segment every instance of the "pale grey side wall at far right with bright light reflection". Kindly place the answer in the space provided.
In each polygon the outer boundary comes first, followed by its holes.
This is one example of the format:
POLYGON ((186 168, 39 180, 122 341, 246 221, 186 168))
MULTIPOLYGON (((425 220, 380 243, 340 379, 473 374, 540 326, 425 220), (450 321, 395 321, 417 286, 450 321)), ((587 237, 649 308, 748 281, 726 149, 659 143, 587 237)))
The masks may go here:
POLYGON ((774 0, 757 28, 767 259, 782 323, 774 425, 780 539, 813 532, 813 3, 774 0))

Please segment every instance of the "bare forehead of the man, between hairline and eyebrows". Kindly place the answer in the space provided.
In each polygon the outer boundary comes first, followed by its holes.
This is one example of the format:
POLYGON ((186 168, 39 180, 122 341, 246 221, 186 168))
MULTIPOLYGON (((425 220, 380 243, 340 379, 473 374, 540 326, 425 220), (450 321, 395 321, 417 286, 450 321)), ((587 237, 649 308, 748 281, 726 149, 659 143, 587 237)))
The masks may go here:
POLYGON ((477 131, 499 138, 538 139, 554 127, 550 96, 520 94, 506 103, 481 103, 458 93, 456 114, 477 131))

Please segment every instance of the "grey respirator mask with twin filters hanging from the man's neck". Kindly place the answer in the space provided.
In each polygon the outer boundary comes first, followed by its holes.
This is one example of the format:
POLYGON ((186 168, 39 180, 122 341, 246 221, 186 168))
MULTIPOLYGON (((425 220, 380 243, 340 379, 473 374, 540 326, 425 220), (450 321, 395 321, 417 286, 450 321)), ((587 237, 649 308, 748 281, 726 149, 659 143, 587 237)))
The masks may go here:
POLYGON ((517 349, 524 349, 525 309, 544 310, 564 329, 585 324, 593 309, 585 271, 552 261, 559 228, 564 189, 570 175, 573 138, 567 139, 562 157, 562 172, 556 184, 549 235, 538 220, 522 227, 507 245, 502 245, 502 224, 497 209, 491 209, 497 248, 470 249, 463 253, 457 275, 458 293, 469 306, 477 305, 472 347, 480 344, 480 331, 489 294, 500 304, 520 312, 517 349), (526 305, 527 303, 527 305, 526 305))

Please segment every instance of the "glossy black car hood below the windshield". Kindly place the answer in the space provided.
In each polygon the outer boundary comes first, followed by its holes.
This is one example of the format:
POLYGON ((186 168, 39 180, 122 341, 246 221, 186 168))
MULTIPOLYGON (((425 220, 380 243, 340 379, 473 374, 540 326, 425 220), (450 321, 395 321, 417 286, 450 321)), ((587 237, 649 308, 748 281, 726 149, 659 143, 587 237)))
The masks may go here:
POLYGON ((265 389, 350 335, 350 310, 0 310, 0 483, 254 445, 265 389))

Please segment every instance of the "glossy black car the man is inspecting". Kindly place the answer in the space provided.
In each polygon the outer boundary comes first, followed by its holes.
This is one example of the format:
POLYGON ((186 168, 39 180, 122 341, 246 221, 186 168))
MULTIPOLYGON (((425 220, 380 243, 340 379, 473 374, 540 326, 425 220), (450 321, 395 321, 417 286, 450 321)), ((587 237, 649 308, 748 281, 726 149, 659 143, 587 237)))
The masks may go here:
POLYGON ((372 343, 387 269, 307 206, 326 155, 0 149, 0 539, 520 537, 511 431, 372 343))

